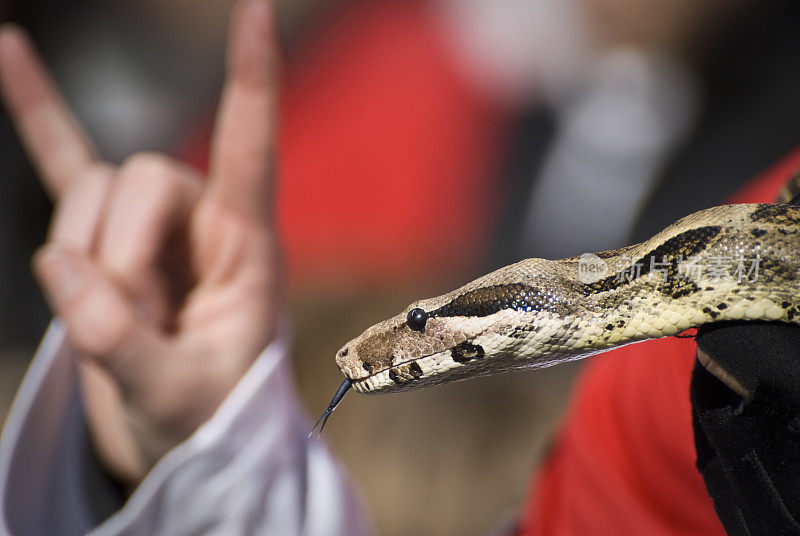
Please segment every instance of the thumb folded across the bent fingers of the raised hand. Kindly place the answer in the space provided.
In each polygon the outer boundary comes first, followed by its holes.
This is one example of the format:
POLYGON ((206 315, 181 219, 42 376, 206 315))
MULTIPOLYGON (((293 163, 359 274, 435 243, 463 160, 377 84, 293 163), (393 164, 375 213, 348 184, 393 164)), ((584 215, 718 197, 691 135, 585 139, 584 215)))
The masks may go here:
POLYGON ((123 292, 86 255, 49 244, 33 258, 34 272, 67 337, 119 381, 142 385, 164 342, 123 292))

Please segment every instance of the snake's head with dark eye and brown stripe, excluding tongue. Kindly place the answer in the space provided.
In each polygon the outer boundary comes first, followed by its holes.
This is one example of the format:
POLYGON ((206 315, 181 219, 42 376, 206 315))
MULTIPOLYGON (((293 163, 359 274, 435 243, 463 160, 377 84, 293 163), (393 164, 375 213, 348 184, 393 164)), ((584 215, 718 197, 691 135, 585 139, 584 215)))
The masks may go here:
POLYGON ((361 393, 417 389, 521 368, 523 362, 530 366, 515 350, 538 330, 537 319, 567 310, 558 281, 552 261, 529 259, 501 268, 375 324, 339 350, 336 364, 361 393), (531 273, 549 274, 555 283, 544 288, 531 273))

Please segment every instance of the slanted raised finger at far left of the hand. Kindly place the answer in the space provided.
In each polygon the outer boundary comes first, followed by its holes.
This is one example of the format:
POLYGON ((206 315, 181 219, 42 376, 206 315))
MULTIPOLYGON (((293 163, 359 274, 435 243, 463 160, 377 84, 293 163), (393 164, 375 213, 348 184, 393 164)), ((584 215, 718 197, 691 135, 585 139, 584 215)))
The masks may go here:
POLYGON ((0 31, 0 91, 45 188, 58 196, 96 162, 86 136, 21 29, 0 31))

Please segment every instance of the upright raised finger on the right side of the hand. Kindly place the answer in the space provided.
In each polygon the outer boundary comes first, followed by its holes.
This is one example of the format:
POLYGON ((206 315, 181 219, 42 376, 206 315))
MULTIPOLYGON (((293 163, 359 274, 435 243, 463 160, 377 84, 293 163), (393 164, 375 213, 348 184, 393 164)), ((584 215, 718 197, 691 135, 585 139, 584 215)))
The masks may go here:
POLYGON ((275 44, 271 6, 234 8, 226 81, 211 142, 209 194, 249 217, 264 218, 272 198, 275 44))

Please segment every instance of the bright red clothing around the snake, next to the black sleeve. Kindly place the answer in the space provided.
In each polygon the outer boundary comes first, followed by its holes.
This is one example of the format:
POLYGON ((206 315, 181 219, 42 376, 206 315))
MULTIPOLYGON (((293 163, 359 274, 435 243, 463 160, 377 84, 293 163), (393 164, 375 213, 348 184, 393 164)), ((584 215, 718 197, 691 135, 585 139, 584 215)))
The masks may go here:
MULTIPOLYGON (((731 201, 771 202, 798 168, 800 151, 731 201)), ((725 534, 694 465, 694 359, 692 339, 669 338, 587 363, 521 534, 725 534)))

